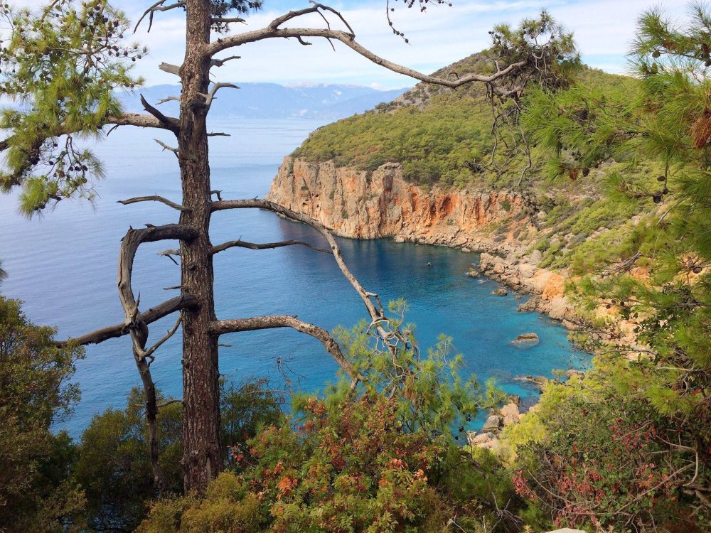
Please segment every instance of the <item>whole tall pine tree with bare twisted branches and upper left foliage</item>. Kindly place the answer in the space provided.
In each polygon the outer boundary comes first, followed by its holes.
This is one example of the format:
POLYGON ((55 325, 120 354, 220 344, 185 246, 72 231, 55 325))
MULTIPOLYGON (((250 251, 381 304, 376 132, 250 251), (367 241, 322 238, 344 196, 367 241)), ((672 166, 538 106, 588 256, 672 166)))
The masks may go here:
MULTIPOLYGON (((429 2, 441 3, 437 0, 429 2)), ((0 119, 0 127, 10 131, 8 138, 0 142, 0 150, 6 155, 6 168, 0 176, 0 187, 6 192, 21 188, 20 208, 26 215, 33 215, 62 198, 93 198, 93 178, 100 175, 100 162, 89 151, 77 147, 77 138, 104 136, 110 133, 107 126, 163 129, 171 131, 176 138, 175 146, 163 146, 174 151, 177 156, 182 198, 169 200, 150 195, 122 202, 164 203, 166 208, 176 210, 178 215, 175 224, 131 228, 122 239, 117 288, 124 309, 124 320, 80 338, 64 341, 86 345, 121 335, 131 336, 134 359, 146 394, 151 461, 156 486, 159 488, 162 484, 156 424, 159 407, 156 405, 150 367, 156 350, 178 328, 182 327, 183 330, 182 463, 186 492, 203 492, 224 464, 220 446, 218 386, 220 335, 247 330, 294 328, 320 340, 331 356, 351 375, 354 385, 363 379, 348 364, 331 335, 316 325, 299 321, 294 316, 236 319, 215 316, 215 254, 233 247, 263 249, 294 244, 312 246, 297 241, 255 244, 241 239, 215 245, 210 241, 210 217, 214 212, 232 209, 270 210, 290 220, 310 225, 325 237, 329 245, 328 249, 318 251, 333 254, 338 268, 363 301, 373 328, 378 331, 383 344, 392 347, 407 340, 385 318, 378 296, 366 291, 348 270, 336 240, 326 227, 310 217, 267 200, 223 199, 212 189, 208 141, 213 134, 208 133, 206 119, 216 93, 235 86, 210 82, 210 73, 225 62, 238 59, 235 50, 247 43, 292 39, 295 44, 308 45, 309 39, 327 39, 334 51, 335 43, 342 43, 383 68, 422 82, 451 88, 479 82, 485 84, 492 94, 511 97, 518 95, 521 90, 515 84, 526 78, 521 72, 533 68, 532 65, 540 65, 541 54, 550 55, 550 50, 545 49, 546 46, 550 47, 550 41, 548 44, 531 42, 528 50, 517 51, 515 55, 502 53, 500 57, 494 58, 491 72, 486 74, 457 76, 451 73, 445 77, 424 75, 380 58, 360 45, 341 13, 315 2, 311 2, 305 9, 290 11, 274 18, 264 28, 230 33, 232 24, 245 22, 243 17, 259 9, 261 4, 261 1, 247 0, 177 0, 174 3, 160 0, 146 10, 139 23, 148 23, 149 28, 154 24, 154 17, 164 11, 178 10, 186 17, 186 52, 183 63, 161 65, 162 70, 176 75, 181 83, 181 94, 172 98, 180 102, 178 117, 166 116, 143 97, 141 103, 145 114, 121 112, 114 91, 141 84, 142 80, 129 75, 129 67, 141 58, 145 50, 137 45, 124 44, 124 33, 129 33, 131 28, 127 19, 112 8, 107 0, 85 0, 82 3, 75 0, 50 0, 45 7, 36 11, 0 6, 0 18, 10 28, 4 35, 0 50, 3 72, 0 91, 11 98, 22 99, 25 104, 19 110, 6 110, 0 119), (309 14, 319 14, 323 26, 299 27, 301 18, 309 14), (218 37, 215 38, 215 35, 218 37), (131 284, 134 257, 144 242, 166 240, 177 240, 180 243, 179 249, 166 251, 166 254, 175 256, 175 260, 180 263, 180 295, 153 308, 141 310, 140 298, 134 296, 131 284), (156 343, 149 345, 149 325, 174 313, 177 313, 175 326, 156 343)), ((428 2, 406 0, 405 4, 419 4, 423 8, 428 2)), ((389 12, 387 20, 390 21, 389 12)), ((404 38, 399 31, 393 31, 404 38)))

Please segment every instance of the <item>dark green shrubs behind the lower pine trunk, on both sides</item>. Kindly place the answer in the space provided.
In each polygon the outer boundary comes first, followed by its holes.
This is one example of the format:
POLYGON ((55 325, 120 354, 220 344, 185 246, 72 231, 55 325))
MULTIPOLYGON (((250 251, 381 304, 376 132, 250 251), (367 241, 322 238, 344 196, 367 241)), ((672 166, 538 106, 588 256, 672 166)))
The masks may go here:
MULTIPOLYGON (((262 426, 282 424, 279 397, 260 380, 235 385, 223 382, 221 419, 225 446, 245 449, 247 439, 262 426)), ((162 495, 154 486, 149 459, 145 400, 140 389, 127 397, 126 409, 107 409, 95 416, 82 434, 72 478, 86 495, 85 522, 93 531, 133 531, 158 497, 183 493, 181 457, 182 409, 161 399, 158 414, 159 463, 164 473, 162 495)))

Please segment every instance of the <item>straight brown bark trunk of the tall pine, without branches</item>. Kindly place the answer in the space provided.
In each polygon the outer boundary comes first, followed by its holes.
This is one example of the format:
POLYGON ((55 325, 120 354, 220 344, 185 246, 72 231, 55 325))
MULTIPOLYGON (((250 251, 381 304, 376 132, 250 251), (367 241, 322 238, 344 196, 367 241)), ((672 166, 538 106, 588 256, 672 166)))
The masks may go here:
POLYGON ((201 493, 223 467, 220 447, 218 342, 208 326, 215 320, 213 259, 210 254, 210 166, 205 125, 210 39, 208 0, 187 1, 186 55, 181 68, 181 132, 178 160, 183 187, 181 225, 198 238, 181 243, 183 291, 199 306, 183 311, 183 472, 186 492, 201 493))

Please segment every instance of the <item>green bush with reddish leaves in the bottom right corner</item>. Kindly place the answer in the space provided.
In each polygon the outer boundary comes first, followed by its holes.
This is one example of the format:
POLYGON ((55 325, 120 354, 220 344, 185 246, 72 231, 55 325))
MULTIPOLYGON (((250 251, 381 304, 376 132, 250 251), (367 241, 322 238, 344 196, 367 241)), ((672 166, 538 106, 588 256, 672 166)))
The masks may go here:
MULTIPOLYGON (((601 355, 583 379, 551 384, 533 414, 508 431, 513 483, 530 503, 529 524, 620 532, 705 532, 711 513, 697 491, 711 472, 694 446, 701 424, 666 416, 642 393, 649 360, 601 355)), ((703 497, 703 493, 702 493, 703 497)))

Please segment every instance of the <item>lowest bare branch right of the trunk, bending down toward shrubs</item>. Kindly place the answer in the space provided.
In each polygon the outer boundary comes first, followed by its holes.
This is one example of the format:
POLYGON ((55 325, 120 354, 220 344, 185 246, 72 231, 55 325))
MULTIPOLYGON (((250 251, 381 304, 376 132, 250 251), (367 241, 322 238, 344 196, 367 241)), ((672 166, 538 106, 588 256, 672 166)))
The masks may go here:
POLYGON ((256 318, 237 318, 228 321, 215 321, 210 323, 210 333, 213 335, 224 335, 225 333, 237 333, 240 331, 255 331, 273 328, 293 328, 306 335, 317 338, 324 345, 326 350, 333 356, 338 365, 345 370, 353 381, 364 381, 360 373, 353 368, 346 357, 343 356, 341 348, 331 334, 317 325, 300 321, 295 316, 260 316, 256 318))

